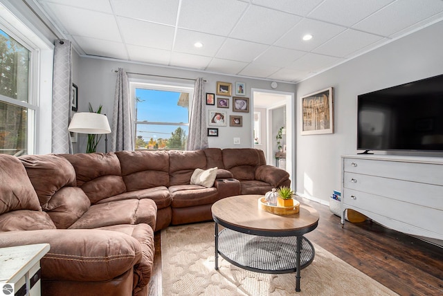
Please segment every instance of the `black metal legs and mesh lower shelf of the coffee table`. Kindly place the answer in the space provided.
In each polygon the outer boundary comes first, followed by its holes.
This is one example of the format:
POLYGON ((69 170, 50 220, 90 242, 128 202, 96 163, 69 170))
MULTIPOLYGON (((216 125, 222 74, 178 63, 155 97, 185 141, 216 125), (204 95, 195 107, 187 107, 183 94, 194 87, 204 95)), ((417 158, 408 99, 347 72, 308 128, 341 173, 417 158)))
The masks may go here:
POLYGON ((215 223, 215 247, 216 270, 220 255, 229 263, 254 272, 271 274, 297 272, 297 292, 300 292, 300 270, 308 266, 315 256, 314 246, 303 236, 262 237, 228 228, 219 232, 217 223, 215 223))

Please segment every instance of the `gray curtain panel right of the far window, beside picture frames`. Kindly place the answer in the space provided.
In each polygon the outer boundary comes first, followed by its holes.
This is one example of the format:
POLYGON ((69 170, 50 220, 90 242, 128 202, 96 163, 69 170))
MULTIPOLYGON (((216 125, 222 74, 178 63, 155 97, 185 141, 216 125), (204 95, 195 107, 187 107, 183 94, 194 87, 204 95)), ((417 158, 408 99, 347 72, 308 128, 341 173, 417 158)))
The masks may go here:
POLYGON ((204 98, 204 93, 204 80, 203 78, 197 78, 194 87, 194 98, 192 98, 187 150, 208 148, 206 98, 204 98))

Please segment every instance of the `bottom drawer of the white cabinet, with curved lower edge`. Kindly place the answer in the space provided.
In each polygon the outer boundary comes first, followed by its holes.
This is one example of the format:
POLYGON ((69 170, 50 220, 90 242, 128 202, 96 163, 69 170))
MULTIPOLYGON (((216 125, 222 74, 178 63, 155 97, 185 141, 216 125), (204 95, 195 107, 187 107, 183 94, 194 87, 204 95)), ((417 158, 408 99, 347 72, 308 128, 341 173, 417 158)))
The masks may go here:
POLYGON ((385 216, 388 219, 400 221, 416 228, 422 228, 443 235, 443 211, 430 209, 412 203, 400 203, 392 198, 386 198, 353 189, 343 190, 343 203, 356 209, 369 211, 385 216))

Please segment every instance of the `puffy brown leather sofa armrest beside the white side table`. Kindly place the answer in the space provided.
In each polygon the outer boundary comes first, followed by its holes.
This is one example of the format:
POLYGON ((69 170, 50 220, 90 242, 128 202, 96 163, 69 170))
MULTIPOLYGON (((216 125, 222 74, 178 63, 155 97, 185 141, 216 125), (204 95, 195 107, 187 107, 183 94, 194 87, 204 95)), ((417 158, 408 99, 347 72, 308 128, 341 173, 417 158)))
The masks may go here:
POLYGON ((141 245, 127 234, 108 230, 28 230, 0 233, 0 248, 49 243, 40 261, 42 278, 106 281, 134 268, 141 245))

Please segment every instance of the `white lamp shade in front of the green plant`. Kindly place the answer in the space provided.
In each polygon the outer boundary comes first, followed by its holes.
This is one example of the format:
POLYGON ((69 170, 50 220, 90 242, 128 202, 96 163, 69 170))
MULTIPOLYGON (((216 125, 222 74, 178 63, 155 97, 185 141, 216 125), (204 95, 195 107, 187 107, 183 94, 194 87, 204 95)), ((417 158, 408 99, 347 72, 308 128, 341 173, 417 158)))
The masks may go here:
POLYGON ((108 118, 106 115, 93 112, 75 113, 69 124, 68 131, 74 133, 110 133, 108 118))

